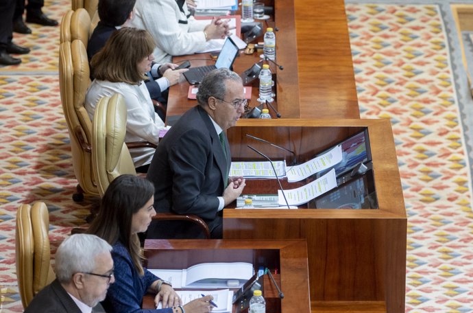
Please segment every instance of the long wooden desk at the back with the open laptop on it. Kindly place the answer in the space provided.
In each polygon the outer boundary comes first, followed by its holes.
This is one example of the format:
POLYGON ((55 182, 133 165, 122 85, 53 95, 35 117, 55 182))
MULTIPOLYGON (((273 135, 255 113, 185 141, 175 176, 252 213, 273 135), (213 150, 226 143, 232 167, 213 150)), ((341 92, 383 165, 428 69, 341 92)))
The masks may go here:
MULTIPOLYGON (((343 0, 274 1, 276 25, 276 61, 284 70, 276 73, 276 108, 283 118, 359 118, 358 101, 348 26, 343 0)), ((266 27, 266 24, 263 23, 266 27)), ((261 40, 261 39, 259 39, 261 40)), ((243 73, 258 62, 260 53, 241 54, 234 71, 243 73)), ((174 58, 209 59, 208 54, 174 58)), ((192 66, 211 64, 193 60, 192 66)), ((250 106, 258 105, 258 82, 254 82, 250 106)), ((189 84, 171 86, 167 115, 182 115, 197 102, 187 100, 189 84)), ((272 114, 272 113, 271 113, 272 114)))

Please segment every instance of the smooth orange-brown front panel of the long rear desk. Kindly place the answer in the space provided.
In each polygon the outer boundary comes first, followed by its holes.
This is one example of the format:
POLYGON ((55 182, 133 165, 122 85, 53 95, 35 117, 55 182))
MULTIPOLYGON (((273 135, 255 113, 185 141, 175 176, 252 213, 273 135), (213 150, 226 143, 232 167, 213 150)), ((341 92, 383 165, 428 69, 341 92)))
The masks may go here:
POLYGON ((294 10, 300 117, 359 118, 343 0, 294 0, 294 10))

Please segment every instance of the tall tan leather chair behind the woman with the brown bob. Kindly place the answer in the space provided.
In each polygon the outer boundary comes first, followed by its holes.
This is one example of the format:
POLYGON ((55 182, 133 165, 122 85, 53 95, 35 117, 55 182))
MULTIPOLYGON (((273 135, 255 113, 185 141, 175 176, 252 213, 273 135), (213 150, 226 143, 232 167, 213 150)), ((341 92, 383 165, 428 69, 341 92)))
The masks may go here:
POLYGON ((71 139, 73 169, 84 192, 97 195, 90 154, 92 122, 84 107, 87 88, 90 85, 89 72, 86 49, 82 41, 61 43, 59 87, 62 110, 71 139))

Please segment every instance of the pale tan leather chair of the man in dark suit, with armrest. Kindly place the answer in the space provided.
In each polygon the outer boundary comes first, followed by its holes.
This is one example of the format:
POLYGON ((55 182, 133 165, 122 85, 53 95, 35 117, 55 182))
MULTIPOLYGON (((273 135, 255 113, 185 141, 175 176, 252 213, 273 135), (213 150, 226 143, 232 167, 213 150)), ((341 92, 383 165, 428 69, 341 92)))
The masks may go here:
MULTIPOLYGON (((126 106, 123 96, 115 94, 103 97, 95 108, 93 118, 92 163, 101 196, 110 182, 121 174, 136 175, 134 164, 127 144, 126 106)), ((135 143, 136 146, 142 142, 135 143)), ((128 143, 130 145, 130 143, 128 143)), ((202 218, 193 214, 157 213, 154 220, 185 220, 197 224, 206 238, 210 238, 208 226, 202 218)))

